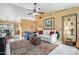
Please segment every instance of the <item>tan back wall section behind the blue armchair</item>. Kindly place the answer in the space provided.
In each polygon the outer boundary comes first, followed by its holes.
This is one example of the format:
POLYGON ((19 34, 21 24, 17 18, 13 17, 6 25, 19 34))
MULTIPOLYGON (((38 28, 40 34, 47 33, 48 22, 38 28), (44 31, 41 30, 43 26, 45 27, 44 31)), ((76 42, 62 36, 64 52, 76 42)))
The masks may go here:
POLYGON ((34 31, 33 24, 34 24, 34 21, 31 21, 28 19, 21 19, 22 34, 25 31, 34 31))

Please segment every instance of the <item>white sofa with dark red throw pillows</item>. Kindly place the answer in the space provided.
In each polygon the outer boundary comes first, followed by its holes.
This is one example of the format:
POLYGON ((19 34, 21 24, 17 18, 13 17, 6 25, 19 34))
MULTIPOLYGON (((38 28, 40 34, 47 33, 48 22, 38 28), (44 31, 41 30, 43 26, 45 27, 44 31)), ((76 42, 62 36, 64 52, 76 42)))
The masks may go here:
POLYGON ((41 40, 44 40, 46 42, 55 43, 58 38, 58 34, 55 30, 41 30, 38 31, 37 35, 41 37, 41 40))

